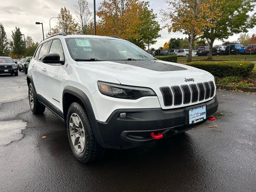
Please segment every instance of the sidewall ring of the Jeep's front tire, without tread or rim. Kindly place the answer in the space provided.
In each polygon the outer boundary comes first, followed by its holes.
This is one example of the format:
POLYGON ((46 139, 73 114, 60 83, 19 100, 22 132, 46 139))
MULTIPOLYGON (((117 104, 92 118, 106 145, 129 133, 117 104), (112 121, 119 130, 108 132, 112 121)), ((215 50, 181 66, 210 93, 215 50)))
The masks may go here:
POLYGON ((66 120, 66 128, 67 128, 67 132, 68 132, 68 141, 69 141, 69 144, 70 144, 70 147, 72 149, 72 152, 74 154, 74 156, 76 156, 76 158, 78 158, 78 160, 80 159, 83 159, 84 156, 86 155, 86 151, 88 149, 88 146, 87 146, 87 132, 86 132, 86 127, 85 127, 85 122, 84 122, 84 119, 82 118, 82 115, 80 114, 79 110, 77 108, 75 108, 74 106, 70 106, 69 110, 68 110, 68 114, 67 114, 67 120, 66 120), (84 126, 84 134, 85 134, 85 143, 86 143, 86 147, 84 147, 84 151, 82 153, 78 153, 74 147, 74 145, 72 144, 72 140, 71 140, 71 136, 70 136, 70 128, 69 128, 69 122, 70 122, 70 116, 73 114, 73 113, 76 113, 83 126, 84 126))

